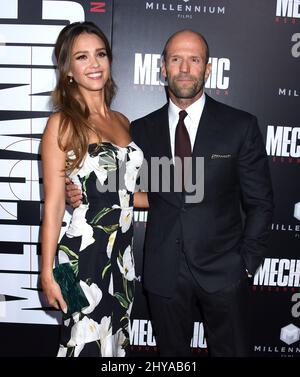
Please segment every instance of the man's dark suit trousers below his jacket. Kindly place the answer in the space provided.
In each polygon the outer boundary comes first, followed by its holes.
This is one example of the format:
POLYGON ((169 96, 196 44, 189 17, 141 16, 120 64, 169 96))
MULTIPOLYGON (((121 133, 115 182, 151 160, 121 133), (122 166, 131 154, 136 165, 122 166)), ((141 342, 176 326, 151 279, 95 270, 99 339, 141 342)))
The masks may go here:
MULTIPOLYGON (((148 292, 152 324, 160 356, 191 356, 195 314, 203 319, 212 357, 247 357, 249 284, 245 277, 208 293, 193 278, 182 253, 177 288, 172 297, 148 292)), ((196 317, 197 318, 197 317, 196 317)))

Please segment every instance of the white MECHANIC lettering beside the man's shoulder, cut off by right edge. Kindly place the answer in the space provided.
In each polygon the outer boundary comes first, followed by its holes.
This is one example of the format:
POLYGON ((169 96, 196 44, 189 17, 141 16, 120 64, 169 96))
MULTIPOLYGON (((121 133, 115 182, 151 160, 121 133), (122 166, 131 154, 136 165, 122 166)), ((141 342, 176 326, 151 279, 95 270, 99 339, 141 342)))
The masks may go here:
POLYGON ((268 125, 266 151, 273 162, 300 164, 300 127, 268 125))

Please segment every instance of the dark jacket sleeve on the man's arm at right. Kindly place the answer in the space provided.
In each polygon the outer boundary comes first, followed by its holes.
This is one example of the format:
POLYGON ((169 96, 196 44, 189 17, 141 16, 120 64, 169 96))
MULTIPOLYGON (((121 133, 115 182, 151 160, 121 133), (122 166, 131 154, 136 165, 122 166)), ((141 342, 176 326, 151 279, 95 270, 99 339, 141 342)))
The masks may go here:
POLYGON ((273 192, 265 145, 257 119, 252 117, 238 158, 245 226, 241 253, 254 274, 267 251, 273 214, 273 192))

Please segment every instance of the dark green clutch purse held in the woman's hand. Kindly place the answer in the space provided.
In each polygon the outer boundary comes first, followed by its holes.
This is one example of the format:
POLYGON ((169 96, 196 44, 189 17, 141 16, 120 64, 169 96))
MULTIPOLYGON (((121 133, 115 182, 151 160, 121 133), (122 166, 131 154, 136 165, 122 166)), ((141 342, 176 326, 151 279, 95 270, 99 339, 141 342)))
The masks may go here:
POLYGON ((68 306, 68 312, 63 313, 63 319, 90 305, 70 263, 59 264, 53 269, 53 275, 68 306))

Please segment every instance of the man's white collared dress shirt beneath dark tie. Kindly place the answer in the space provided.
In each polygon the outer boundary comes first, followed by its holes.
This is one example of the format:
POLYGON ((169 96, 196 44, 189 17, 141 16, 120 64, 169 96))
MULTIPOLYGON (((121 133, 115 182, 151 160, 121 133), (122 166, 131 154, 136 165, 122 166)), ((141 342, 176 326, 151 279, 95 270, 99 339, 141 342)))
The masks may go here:
MULTIPOLYGON (((186 126, 187 132, 190 137, 191 147, 192 150, 194 148, 196 134, 199 126, 199 122, 201 119, 201 115, 203 112, 203 108, 205 105, 205 93, 194 103, 192 103, 189 107, 185 109, 187 112, 187 116, 184 119, 184 124, 186 126)), ((179 111, 181 111, 178 106, 175 105, 172 100, 169 100, 169 109, 168 109, 168 116, 169 116, 169 130, 170 130, 170 142, 171 142, 171 151, 172 157, 174 160, 174 153, 175 153, 175 132, 176 126, 179 120, 179 111)))

